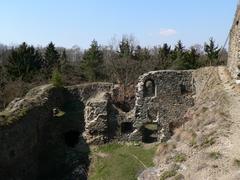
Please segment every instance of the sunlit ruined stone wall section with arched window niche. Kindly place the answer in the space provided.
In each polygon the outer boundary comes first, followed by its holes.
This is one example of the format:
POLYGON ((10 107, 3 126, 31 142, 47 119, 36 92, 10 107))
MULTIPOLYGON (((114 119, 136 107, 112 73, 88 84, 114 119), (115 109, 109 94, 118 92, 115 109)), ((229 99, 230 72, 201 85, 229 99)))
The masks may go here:
POLYGON ((135 131, 132 139, 144 138, 145 126, 154 127, 155 140, 171 135, 171 126, 194 105, 192 71, 153 71, 139 78, 136 90, 135 131))

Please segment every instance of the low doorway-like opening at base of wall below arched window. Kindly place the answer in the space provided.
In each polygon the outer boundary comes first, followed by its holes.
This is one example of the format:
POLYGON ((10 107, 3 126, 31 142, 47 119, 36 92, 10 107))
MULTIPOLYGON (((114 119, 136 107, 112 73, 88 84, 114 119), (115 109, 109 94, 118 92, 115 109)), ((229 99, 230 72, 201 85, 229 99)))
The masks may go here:
POLYGON ((154 123, 145 124, 142 128, 142 141, 144 143, 154 143, 158 139, 158 125, 154 123))

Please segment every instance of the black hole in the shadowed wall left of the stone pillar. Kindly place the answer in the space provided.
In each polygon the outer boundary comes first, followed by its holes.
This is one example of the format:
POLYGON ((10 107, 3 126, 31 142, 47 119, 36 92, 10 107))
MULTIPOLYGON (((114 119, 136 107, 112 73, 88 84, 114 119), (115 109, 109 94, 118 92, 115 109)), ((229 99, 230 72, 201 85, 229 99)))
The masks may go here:
POLYGON ((74 148, 79 143, 80 132, 71 130, 64 133, 64 140, 68 147, 74 148))

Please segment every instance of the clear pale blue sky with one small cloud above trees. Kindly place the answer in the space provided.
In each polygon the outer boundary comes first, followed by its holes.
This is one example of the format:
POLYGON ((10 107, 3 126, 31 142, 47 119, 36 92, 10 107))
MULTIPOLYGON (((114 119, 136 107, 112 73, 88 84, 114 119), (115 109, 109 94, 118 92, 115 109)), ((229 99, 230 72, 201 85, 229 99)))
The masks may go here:
POLYGON ((81 48, 131 34, 142 46, 223 45, 237 0, 1 0, 0 43, 81 48))

